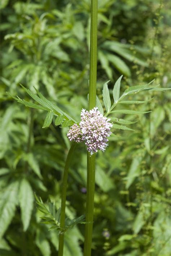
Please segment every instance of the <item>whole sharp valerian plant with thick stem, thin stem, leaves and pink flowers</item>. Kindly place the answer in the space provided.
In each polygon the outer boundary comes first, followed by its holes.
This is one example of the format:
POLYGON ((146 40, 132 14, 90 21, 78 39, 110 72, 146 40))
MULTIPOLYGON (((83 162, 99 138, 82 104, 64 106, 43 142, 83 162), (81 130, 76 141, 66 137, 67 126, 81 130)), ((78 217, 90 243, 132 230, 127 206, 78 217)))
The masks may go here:
MULTIPOLYGON (((55 125, 61 125, 61 127, 69 127, 67 137, 74 143, 68 152, 68 156, 65 163, 63 173, 63 184, 62 184, 62 200, 61 209, 56 210, 54 204, 49 202, 49 206, 43 203, 43 201, 36 197, 38 209, 44 214, 41 219, 43 223, 48 224, 50 229, 57 230, 60 234, 59 238, 59 253, 63 254, 63 243, 65 232, 78 223, 83 223, 84 217, 74 218, 70 221, 65 218, 65 204, 66 204, 66 188, 67 188, 67 177, 72 160, 72 155, 76 147, 76 143, 83 142, 87 145, 87 165, 88 165, 88 176, 87 176, 87 207, 86 207, 86 235, 84 245, 84 255, 91 255, 91 244, 92 244, 92 227, 93 227, 93 199, 95 190, 95 156, 98 150, 104 151, 108 145, 108 137, 115 132, 115 129, 132 130, 127 127, 127 124, 132 124, 132 121, 117 118, 116 115, 120 114, 146 114, 150 111, 137 111, 128 109, 116 109, 114 108, 118 104, 142 104, 147 101, 131 101, 123 100, 125 97, 131 94, 139 93, 140 91, 163 91, 164 88, 150 85, 152 82, 146 85, 131 86, 126 89, 120 96, 120 84, 122 76, 116 81, 113 88, 113 101, 110 99, 110 91, 108 89, 108 82, 104 84, 101 102, 96 96, 96 63, 97 63, 97 1, 92 1, 92 15, 91 15, 91 44, 90 44, 90 82, 89 82, 89 108, 88 110, 83 109, 80 114, 80 120, 76 120, 74 116, 70 116, 63 111, 63 108, 56 106, 53 102, 46 99, 37 89, 36 93, 23 87, 24 90, 34 99, 36 103, 26 101, 19 97, 13 97, 18 102, 25 104, 27 107, 36 108, 38 110, 47 111, 47 116, 44 120, 43 128, 49 127, 52 123, 53 117, 55 116, 55 125), (105 110, 105 111, 104 111, 105 110), (109 116, 109 118, 108 118, 109 116), (80 121, 80 122, 79 122, 80 121)), ((112 50, 111 48, 110 50, 112 50)), ((102 60, 102 54, 99 55, 102 60)), ((102 62, 102 61, 101 61, 102 62)), ((25 181, 23 181, 24 184, 25 181)), ((17 183, 13 184, 16 187, 17 183)), ((26 184, 25 184, 26 185, 26 184)), ((26 187, 29 190, 29 185, 26 187)), ((14 196, 14 195, 13 195, 14 196)), ((33 198, 31 197, 31 200, 33 198)), ((21 210, 23 206, 21 204, 21 210)), ((30 209, 29 209, 30 210, 30 209)), ((22 216, 24 218, 25 216, 22 216)), ((27 229, 30 219, 27 220, 24 230, 27 229)), ((111 252, 112 253, 112 252, 111 252)))

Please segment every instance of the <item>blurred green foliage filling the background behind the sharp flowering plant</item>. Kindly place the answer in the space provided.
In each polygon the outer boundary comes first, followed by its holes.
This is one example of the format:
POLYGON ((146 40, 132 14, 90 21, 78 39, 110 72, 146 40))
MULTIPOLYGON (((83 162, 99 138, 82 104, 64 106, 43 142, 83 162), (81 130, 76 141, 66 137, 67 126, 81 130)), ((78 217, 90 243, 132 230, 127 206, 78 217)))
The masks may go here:
MULTIPOLYGON (((132 85, 170 87, 169 1, 99 0, 97 95, 132 85)), ((90 1, 2 0, 0 77, 0 255, 57 255, 58 235, 40 223, 34 192, 60 207, 61 177, 70 146, 68 128, 44 128, 45 111, 13 100, 31 101, 19 83, 33 86, 79 121, 87 108, 90 1)), ((150 111, 117 115, 132 131, 114 131, 96 161, 92 255, 170 255, 170 91, 128 96, 149 100, 124 109, 150 111), (105 237, 105 232, 110 237, 105 237)), ((119 104, 118 110, 122 109, 119 104)), ((66 215, 85 213, 86 148, 78 145, 70 168, 66 215)), ((81 256, 84 225, 66 231, 64 256, 81 256)))

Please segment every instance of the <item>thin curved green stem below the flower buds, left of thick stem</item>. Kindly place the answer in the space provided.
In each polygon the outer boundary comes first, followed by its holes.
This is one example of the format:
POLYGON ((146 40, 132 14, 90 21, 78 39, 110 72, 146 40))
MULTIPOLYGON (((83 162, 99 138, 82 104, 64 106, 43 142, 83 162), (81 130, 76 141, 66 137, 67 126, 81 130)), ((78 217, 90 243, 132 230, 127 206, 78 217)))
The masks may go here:
MULTIPOLYGON (((65 162, 65 168, 63 172, 63 181, 62 181, 62 199, 61 199, 61 221, 60 221, 60 227, 63 229, 65 227, 65 205, 66 205, 66 189, 67 189, 67 179, 68 179, 68 171, 69 166, 72 160, 73 152, 75 149, 76 144, 73 143, 71 145, 71 148, 68 152, 66 162, 65 162)), ((58 256, 63 255, 63 244, 64 244, 64 232, 60 233, 59 237, 59 250, 58 250, 58 256)))

